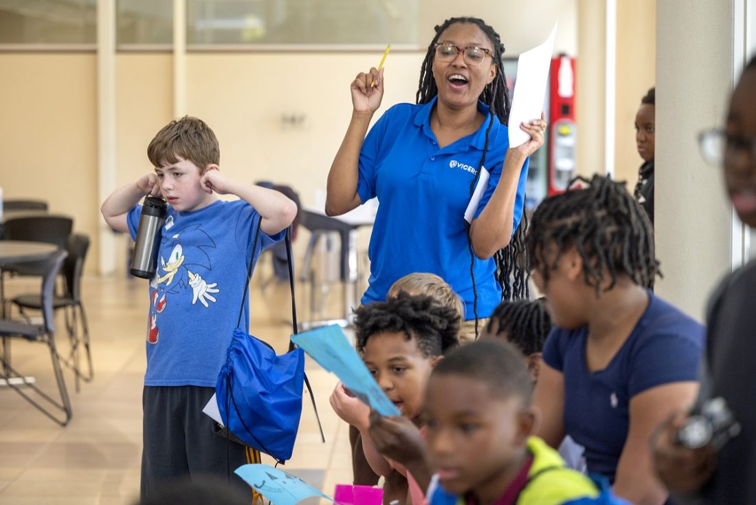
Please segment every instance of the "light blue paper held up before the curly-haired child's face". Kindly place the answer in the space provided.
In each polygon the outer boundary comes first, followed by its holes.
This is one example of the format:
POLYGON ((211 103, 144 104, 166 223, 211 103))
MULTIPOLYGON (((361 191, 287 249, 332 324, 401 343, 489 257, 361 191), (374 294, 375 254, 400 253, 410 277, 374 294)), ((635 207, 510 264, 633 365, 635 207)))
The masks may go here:
POLYGON ((309 332, 293 335, 291 340, 304 349, 313 360, 336 374, 345 387, 381 416, 400 416, 396 405, 386 397, 383 389, 370 375, 355 348, 340 326, 321 326, 309 332))

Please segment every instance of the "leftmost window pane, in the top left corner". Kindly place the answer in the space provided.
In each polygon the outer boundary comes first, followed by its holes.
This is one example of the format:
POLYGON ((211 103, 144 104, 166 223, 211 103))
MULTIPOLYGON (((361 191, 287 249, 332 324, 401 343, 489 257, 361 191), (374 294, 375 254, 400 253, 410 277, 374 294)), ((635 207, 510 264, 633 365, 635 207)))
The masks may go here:
POLYGON ((96 0, 0 0, 0 44, 94 44, 96 0))

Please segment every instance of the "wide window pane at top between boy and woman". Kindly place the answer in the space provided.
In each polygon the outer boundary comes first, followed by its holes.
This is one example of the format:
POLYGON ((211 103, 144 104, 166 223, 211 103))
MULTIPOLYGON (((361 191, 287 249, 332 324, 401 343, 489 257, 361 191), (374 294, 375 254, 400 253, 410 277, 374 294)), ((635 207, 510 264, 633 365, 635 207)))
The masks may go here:
POLYGON ((188 0, 188 44, 417 44, 419 0, 188 0))

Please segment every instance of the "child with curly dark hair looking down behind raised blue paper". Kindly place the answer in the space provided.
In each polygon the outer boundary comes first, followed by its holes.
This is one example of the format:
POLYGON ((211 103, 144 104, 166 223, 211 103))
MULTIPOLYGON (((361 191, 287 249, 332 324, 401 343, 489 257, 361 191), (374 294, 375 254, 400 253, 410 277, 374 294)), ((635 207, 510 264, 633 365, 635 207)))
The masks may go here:
MULTIPOLYGON (((433 366, 445 351, 457 347, 459 313, 427 296, 402 292, 389 301, 358 308, 355 316, 357 349, 367 369, 407 423, 420 426, 423 391, 433 366)), ((394 475, 395 469, 401 473, 404 469, 383 457, 373 444, 368 407, 340 384, 330 402, 339 417, 359 430, 373 471, 386 476, 386 500, 399 497, 404 503, 406 488, 394 475)))

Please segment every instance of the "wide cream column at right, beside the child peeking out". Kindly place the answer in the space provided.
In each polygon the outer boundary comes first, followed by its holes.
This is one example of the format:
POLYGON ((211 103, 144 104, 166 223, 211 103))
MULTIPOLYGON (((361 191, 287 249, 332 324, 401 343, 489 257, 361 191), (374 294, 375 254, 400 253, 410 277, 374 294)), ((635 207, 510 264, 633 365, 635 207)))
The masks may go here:
POLYGON ((739 1, 656 5, 655 236, 665 276, 657 292, 699 320, 732 263, 721 169, 705 164, 697 138, 727 114, 739 1))

